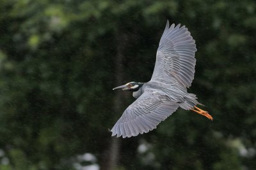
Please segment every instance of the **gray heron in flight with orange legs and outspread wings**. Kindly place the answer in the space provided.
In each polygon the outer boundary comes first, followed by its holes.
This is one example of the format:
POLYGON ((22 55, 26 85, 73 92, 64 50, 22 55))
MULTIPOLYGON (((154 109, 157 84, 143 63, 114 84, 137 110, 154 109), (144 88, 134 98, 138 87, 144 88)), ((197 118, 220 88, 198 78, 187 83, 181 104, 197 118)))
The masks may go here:
POLYGON ((132 91, 137 99, 111 129, 112 136, 130 138, 152 131, 179 107, 213 119, 207 111, 196 107, 200 104, 196 95, 187 92, 194 79, 195 52, 195 40, 188 29, 180 24, 169 26, 167 20, 151 80, 132 81, 113 89, 132 91))

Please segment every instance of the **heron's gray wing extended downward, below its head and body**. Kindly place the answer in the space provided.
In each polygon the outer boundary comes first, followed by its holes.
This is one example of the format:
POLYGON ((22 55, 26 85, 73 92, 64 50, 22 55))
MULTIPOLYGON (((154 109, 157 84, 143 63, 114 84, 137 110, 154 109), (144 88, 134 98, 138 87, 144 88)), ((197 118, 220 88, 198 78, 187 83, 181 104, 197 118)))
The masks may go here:
POLYGON ((123 113, 111 129, 112 136, 123 138, 156 129, 156 126, 177 110, 177 103, 157 92, 145 91, 123 113))

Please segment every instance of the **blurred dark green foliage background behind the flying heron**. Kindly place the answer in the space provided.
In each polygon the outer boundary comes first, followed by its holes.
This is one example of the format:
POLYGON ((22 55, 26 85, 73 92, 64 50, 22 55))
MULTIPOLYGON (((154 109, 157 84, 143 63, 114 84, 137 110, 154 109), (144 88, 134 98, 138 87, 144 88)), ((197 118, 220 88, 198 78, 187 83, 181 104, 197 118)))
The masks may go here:
POLYGON ((256 3, 0 1, 0 169, 256 169, 256 3), (111 138, 150 80, 166 20, 196 40, 188 90, 214 117, 179 109, 154 131, 111 138))

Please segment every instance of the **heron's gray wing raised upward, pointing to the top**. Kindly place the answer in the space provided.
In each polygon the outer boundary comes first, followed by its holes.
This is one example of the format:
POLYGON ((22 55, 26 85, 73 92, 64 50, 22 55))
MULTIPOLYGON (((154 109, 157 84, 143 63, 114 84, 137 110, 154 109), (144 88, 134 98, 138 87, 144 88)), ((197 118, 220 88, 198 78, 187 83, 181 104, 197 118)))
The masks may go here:
POLYGON ((185 26, 169 27, 167 20, 156 55, 156 65, 151 80, 177 81, 190 87, 195 74, 195 40, 185 26))

